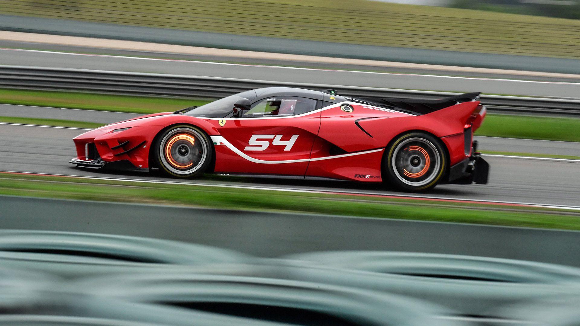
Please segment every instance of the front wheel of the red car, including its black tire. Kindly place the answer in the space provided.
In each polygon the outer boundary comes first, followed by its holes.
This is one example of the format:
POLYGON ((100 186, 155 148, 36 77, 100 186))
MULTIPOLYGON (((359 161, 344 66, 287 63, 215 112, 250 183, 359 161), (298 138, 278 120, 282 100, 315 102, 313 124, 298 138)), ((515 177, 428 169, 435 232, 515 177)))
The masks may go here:
POLYGON ((213 144, 208 135, 191 125, 166 129, 156 138, 153 150, 159 172, 176 178, 200 176, 213 157, 213 144))

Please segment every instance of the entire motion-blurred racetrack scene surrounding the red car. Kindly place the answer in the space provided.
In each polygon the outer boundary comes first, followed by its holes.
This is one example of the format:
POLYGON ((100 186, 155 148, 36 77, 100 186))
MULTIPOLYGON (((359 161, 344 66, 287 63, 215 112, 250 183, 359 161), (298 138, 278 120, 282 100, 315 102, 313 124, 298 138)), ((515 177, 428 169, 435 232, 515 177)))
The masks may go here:
POLYGON ((579 117, 578 0, 0 0, 0 323, 577 326, 579 117), (68 164, 264 86, 482 92, 490 183, 68 164))

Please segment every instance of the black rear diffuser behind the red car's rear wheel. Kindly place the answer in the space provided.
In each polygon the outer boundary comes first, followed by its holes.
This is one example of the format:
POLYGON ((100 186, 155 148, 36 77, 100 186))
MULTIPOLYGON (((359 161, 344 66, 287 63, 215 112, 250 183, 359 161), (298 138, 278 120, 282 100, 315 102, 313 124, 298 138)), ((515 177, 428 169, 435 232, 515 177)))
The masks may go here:
POLYGON ((447 183, 452 184, 486 184, 490 175, 490 164, 474 152, 469 158, 451 166, 447 183))

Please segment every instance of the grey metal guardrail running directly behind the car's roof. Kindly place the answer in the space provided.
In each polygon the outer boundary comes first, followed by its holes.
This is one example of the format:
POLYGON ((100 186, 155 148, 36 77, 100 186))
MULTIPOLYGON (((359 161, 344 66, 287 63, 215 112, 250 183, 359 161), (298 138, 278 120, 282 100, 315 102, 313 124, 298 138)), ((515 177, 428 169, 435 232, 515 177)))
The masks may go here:
MULTIPOLYGON (((0 65, 0 87, 106 92, 129 95, 223 97, 243 90, 269 86, 336 89, 345 96, 383 96, 436 99, 457 95, 449 92, 258 81, 222 77, 127 73, 70 68, 0 65)), ((492 112, 580 115, 580 100, 482 95, 492 112)))

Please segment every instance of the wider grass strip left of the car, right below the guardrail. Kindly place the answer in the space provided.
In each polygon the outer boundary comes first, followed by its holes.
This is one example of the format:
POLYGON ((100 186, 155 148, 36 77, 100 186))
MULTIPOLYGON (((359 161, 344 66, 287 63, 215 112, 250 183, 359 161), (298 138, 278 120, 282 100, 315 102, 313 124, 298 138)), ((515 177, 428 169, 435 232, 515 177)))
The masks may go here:
POLYGON ((189 106, 200 106, 208 102, 208 100, 175 99, 171 97, 0 89, 0 103, 3 104, 66 107, 142 114, 175 111, 189 106))

